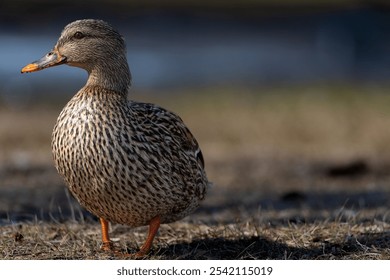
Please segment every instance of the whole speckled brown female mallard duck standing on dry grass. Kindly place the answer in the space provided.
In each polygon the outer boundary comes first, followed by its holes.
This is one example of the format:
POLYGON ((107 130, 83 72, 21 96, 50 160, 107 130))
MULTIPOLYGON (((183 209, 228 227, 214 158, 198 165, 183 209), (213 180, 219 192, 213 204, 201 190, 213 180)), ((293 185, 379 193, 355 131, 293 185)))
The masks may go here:
POLYGON ((204 199, 202 152, 176 114, 127 100, 131 74, 122 36, 101 20, 68 24, 47 55, 22 73, 68 64, 87 70, 86 85, 60 113, 52 134, 55 166, 70 192, 100 218, 103 249, 112 245, 108 221, 149 234, 187 216, 204 199))

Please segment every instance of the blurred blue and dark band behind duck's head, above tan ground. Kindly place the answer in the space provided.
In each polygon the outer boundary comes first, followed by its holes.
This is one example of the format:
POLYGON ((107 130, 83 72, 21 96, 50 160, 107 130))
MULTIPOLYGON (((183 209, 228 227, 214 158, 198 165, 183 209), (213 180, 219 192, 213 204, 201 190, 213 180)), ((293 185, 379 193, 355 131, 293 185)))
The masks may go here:
MULTIPOLYGON (((44 1, 0 4, 2 100, 64 92, 85 74, 17 75, 62 28, 100 18, 125 36, 134 89, 386 82, 388 1, 44 1), (52 82, 50 82, 52 81, 52 82)), ((81 71, 82 72, 82 71, 81 71)))

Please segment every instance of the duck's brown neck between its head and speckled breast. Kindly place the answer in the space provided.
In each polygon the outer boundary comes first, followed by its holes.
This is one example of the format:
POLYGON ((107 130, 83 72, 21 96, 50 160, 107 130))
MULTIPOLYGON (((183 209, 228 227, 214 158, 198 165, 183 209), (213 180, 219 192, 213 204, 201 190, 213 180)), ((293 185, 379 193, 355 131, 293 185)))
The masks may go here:
POLYGON ((126 57, 101 61, 88 70, 86 86, 98 86, 127 96, 131 85, 131 73, 126 57))

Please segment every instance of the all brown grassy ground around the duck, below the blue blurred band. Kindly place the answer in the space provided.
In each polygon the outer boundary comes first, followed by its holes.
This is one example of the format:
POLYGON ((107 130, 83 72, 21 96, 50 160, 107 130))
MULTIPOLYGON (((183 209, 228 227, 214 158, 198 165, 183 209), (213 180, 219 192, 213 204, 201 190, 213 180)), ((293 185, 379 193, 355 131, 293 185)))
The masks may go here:
MULTIPOLYGON (((387 86, 137 92, 178 113, 199 140, 213 187, 163 225, 147 259, 390 259, 387 86)), ((53 167, 65 100, 0 99, 0 258, 115 259, 100 226, 53 167)), ((146 227, 111 225, 136 252, 146 227)))

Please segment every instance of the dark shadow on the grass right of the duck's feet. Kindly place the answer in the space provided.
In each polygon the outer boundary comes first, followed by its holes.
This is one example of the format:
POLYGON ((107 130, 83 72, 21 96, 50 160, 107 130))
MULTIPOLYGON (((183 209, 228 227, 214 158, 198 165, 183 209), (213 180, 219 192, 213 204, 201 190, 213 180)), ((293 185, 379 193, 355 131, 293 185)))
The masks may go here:
POLYGON ((318 240, 310 247, 289 246, 263 237, 246 237, 237 240, 224 238, 197 239, 189 243, 172 244, 152 252, 162 259, 356 259, 362 254, 375 255, 377 249, 390 246, 390 231, 351 236, 340 243, 318 240))

